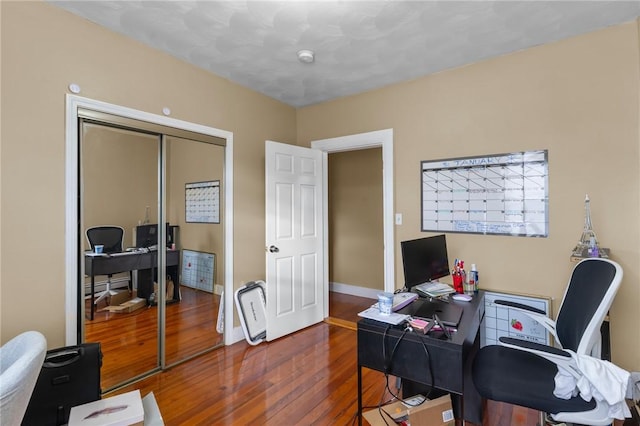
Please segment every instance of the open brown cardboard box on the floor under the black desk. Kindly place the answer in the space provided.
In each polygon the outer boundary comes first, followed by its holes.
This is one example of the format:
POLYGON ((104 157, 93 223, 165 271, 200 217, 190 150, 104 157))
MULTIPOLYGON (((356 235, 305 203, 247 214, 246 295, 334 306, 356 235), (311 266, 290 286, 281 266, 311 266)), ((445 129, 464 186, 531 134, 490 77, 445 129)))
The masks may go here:
POLYGON ((456 423, 449 395, 425 401, 415 407, 407 408, 402 402, 397 401, 383 406, 382 409, 389 413, 392 419, 386 418, 385 423, 377 408, 369 410, 364 413, 364 418, 371 426, 386 426, 403 418, 406 418, 411 426, 454 426, 456 423))

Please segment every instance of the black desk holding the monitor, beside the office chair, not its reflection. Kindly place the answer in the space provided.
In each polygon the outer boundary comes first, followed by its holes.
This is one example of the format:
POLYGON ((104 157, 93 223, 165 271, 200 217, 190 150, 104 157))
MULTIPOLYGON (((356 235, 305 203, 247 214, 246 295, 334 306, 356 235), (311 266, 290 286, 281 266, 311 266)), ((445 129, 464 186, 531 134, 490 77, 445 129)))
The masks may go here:
POLYGON ((458 331, 452 333, 451 340, 407 332, 395 352, 393 348, 403 334, 402 327, 369 319, 358 321, 358 424, 362 424, 362 367, 384 372, 385 366, 388 374, 403 379, 403 386, 428 389, 433 382, 435 388, 450 392, 455 417, 482 424, 482 398, 473 385, 471 365, 480 348, 484 293, 481 291, 471 302, 451 303, 464 308, 458 331), (393 359, 389 360, 392 352, 393 359))

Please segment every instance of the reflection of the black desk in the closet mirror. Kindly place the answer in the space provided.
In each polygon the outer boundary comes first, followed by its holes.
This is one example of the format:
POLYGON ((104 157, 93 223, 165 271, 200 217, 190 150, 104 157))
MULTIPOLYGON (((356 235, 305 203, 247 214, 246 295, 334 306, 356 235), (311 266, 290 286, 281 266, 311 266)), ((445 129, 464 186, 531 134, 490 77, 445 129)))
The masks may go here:
MULTIPOLYGON (((180 297, 178 288, 178 264, 180 250, 167 250, 167 275, 171 275, 174 283, 174 299, 180 297)), ((154 271, 158 266, 158 252, 132 252, 119 256, 84 256, 85 274, 91 277, 91 319, 93 320, 95 276, 118 274, 120 272, 138 271, 138 297, 148 299, 153 293, 154 271)))

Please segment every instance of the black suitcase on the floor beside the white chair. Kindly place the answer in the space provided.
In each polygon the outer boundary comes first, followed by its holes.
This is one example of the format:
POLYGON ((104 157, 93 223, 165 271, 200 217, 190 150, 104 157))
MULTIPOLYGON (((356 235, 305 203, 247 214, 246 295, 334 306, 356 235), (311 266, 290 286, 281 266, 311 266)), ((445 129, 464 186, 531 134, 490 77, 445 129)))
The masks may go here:
POLYGON ((101 398, 101 366, 100 343, 47 351, 22 424, 66 424, 71 407, 101 398))

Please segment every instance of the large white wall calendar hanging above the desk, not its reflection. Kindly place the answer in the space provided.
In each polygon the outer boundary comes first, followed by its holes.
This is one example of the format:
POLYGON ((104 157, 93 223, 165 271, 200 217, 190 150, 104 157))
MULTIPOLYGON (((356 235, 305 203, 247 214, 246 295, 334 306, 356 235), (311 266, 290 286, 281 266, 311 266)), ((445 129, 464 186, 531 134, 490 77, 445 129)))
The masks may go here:
POLYGON ((547 237, 547 151, 422 161, 422 231, 547 237))

